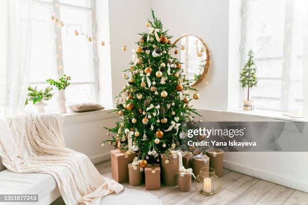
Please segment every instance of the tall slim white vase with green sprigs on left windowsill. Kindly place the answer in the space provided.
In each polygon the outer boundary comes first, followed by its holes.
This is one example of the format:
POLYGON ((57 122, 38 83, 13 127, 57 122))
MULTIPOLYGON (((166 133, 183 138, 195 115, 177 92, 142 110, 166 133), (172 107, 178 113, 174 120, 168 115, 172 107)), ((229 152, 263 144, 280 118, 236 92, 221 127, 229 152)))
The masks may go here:
POLYGON ((69 82, 70 76, 66 76, 65 74, 59 78, 59 80, 53 80, 48 79, 47 82, 51 85, 54 85, 58 88, 58 95, 57 95, 57 101, 58 101, 58 107, 59 107, 59 113, 66 113, 66 107, 65 107, 65 88, 70 84, 69 82))

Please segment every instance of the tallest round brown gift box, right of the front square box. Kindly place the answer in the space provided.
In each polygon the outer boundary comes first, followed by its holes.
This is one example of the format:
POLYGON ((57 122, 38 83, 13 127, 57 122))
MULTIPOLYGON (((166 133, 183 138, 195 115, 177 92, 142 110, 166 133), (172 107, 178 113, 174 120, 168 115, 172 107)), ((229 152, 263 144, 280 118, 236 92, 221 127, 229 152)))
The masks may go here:
POLYGON ((179 165, 182 167, 182 153, 180 153, 180 157, 178 153, 169 153, 168 157, 167 154, 161 156, 163 184, 167 186, 178 185, 179 165))

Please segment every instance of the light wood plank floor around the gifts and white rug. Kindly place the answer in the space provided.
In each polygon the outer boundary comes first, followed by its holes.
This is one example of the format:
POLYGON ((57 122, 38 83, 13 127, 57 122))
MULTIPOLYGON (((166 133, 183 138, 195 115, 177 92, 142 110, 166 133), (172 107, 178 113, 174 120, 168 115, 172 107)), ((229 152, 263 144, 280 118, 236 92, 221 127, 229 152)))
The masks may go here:
MULTIPOLYGON (((95 165, 98 171, 105 177, 111 178, 110 161, 95 165)), ((224 169, 222 189, 213 196, 204 196, 195 190, 192 183, 190 192, 181 192, 177 186, 164 186, 161 190, 149 191, 157 195, 165 205, 220 205, 220 204, 255 204, 255 205, 308 205, 308 193, 294 190, 275 183, 264 181, 239 172, 224 169)), ((144 184, 130 186, 128 182, 123 183, 125 188, 133 188, 145 191, 144 184)), ((52 203, 53 205, 64 204, 61 198, 52 203)), ((112 205, 112 204, 108 204, 112 205)))

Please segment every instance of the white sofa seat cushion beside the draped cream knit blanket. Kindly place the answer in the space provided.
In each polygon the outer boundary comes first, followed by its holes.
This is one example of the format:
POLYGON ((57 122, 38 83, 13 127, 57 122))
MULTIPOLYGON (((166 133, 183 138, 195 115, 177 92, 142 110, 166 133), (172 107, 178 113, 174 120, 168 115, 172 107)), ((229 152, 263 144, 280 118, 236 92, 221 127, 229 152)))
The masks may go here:
POLYGON ((39 194, 39 201, 57 189, 50 174, 15 173, 6 169, 0 172, 0 181, 0 194, 39 194))

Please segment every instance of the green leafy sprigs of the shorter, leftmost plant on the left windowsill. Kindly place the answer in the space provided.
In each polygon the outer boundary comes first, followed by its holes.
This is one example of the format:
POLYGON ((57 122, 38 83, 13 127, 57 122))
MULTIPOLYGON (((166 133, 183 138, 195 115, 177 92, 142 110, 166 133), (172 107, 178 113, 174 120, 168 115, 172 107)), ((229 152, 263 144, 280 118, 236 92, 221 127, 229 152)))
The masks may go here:
POLYGON ((51 93, 52 87, 46 87, 45 90, 38 90, 37 86, 35 87, 28 87, 28 94, 26 98, 25 105, 28 105, 29 100, 33 102, 33 105, 36 104, 36 102, 39 102, 41 100, 49 100, 53 96, 53 93, 51 93))

